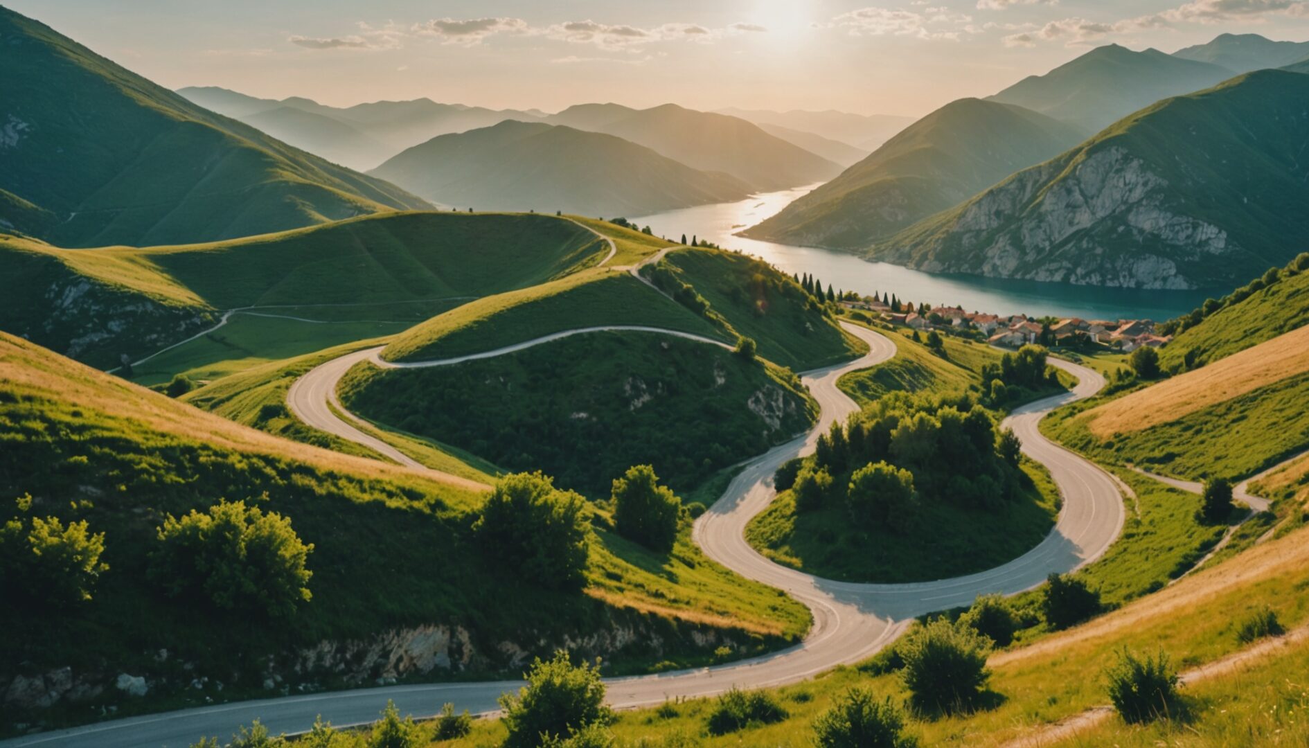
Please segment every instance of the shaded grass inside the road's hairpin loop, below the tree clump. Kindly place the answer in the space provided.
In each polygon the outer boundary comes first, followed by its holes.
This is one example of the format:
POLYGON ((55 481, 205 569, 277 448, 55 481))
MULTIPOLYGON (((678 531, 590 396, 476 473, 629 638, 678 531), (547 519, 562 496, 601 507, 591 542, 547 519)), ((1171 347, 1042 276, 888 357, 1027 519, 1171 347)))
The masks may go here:
POLYGON ((1050 474, 1025 464, 1031 485, 999 511, 923 502, 915 528, 863 531, 846 507, 796 511, 784 491, 746 527, 746 540, 772 561, 842 582, 931 582, 984 571, 1041 542, 1058 515, 1050 474))

